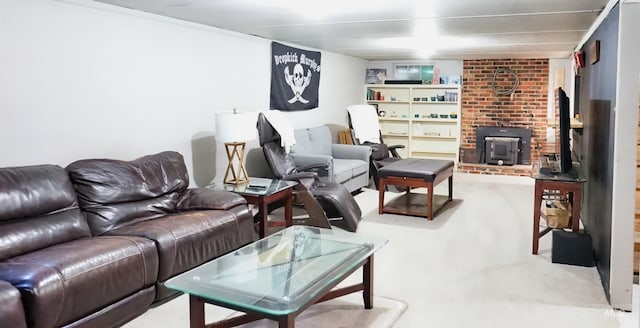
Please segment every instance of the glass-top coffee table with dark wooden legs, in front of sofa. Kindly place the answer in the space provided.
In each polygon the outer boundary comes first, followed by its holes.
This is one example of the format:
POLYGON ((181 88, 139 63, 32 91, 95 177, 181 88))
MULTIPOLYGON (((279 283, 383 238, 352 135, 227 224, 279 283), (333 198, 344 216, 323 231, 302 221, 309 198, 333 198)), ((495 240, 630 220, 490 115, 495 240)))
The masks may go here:
POLYGON ((246 313, 215 327, 262 318, 294 327, 295 317, 312 304, 354 292, 362 291, 364 306, 371 309, 373 253, 386 243, 342 230, 292 226, 171 278, 165 286, 189 294, 191 327, 205 327, 205 303, 246 313), (360 267, 361 283, 332 290, 360 267))

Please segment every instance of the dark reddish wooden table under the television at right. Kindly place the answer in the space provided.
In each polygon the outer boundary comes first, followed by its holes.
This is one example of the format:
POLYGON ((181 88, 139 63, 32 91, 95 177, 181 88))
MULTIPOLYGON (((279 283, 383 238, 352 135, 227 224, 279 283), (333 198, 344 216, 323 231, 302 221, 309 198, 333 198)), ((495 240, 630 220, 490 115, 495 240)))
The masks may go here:
POLYGON ((569 224, 574 232, 580 230, 580 206, 582 202, 582 187, 587 180, 577 162, 573 163, 571 171, 558 174, 534 173, 536 180, 533 202, 533 247, 532 254, 538 254, 539 239, 546 235, 552 228, 546 227, 540 230, 540 208, 545 196, 545 191, 565 198, 571 204, 571 218, 569 224))

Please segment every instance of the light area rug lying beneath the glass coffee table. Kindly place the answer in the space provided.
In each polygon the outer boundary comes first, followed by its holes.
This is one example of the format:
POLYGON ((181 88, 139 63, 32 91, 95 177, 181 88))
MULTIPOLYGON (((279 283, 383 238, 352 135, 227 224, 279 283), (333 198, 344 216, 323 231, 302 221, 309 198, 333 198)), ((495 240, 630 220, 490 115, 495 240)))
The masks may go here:
MULTIPOLYGON (((404 302, 375 296, 373 309, 365 310, 362 294, 346 295, 315 304, 296 318, 298 328, 389 328, 393 327, 407 305, 404 302)), ((213 305, 205 305, 207 322, 235 316, 237 313, 213 305)), ((238 326, 271 328, 278 325, 260 320, 238 326)), ((171 302, 147 311, 124 326, 125 328, 189 327, 189 299, 182 295, 171 302)))

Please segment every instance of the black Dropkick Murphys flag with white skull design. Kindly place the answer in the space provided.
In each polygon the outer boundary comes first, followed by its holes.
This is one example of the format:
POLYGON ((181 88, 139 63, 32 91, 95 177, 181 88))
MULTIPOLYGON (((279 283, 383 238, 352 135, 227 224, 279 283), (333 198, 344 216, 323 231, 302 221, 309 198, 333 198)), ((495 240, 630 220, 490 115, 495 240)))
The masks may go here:
POLYGON ((271 43, 271 105, 275 110, 318 107, 320 52, 271 43))

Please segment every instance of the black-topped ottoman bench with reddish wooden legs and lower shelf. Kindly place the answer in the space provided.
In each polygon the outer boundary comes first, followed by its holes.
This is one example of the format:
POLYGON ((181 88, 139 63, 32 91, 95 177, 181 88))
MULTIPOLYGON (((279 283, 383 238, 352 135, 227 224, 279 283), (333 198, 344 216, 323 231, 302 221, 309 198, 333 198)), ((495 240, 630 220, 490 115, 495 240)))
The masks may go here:
MULTIPOLYGON (((407 158, 382 167, 378 171, 379 199, 378 213, 396 213, 424 216, 433 220, 433 187, 449 180, 449 195, 438 204, 441 209, 453 199, 453 161, 425 158, 407 158), (404 195, 384 205, 384 191, 387 185, 407 187, 404 195), (412 193, 411 188, 427 188, 427 194, 412 193)), ((437 211, 436 210, 436 211, 437 211)))

